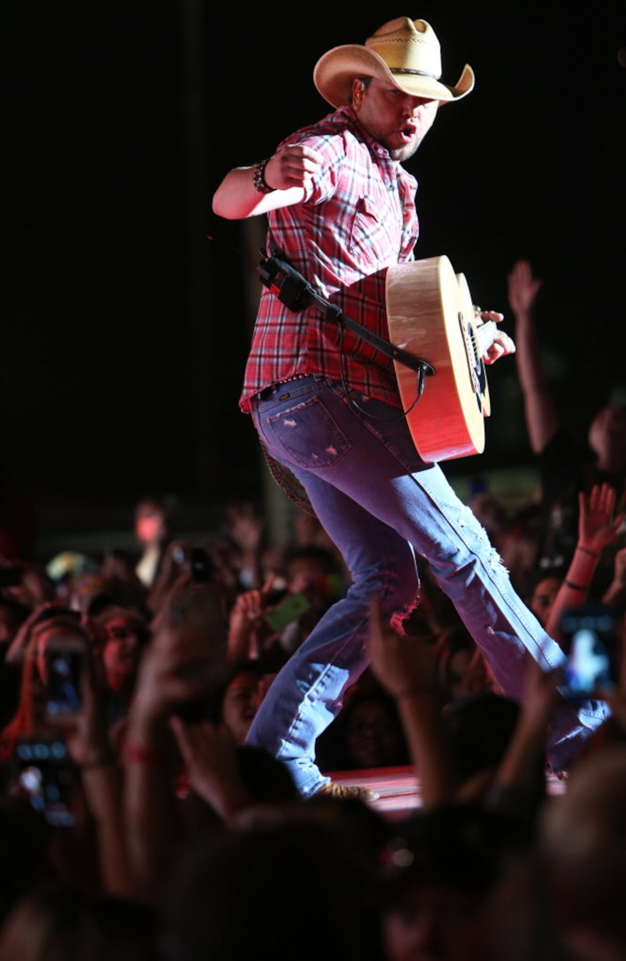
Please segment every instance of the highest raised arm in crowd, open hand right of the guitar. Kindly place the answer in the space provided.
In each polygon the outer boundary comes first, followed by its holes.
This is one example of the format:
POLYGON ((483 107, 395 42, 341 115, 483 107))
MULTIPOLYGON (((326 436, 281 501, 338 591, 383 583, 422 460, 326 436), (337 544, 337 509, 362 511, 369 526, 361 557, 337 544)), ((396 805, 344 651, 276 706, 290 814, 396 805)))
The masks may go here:
POLYGON ((526 430, 535 454, 540 454, 559 430, 560 418, 541 366, 533 308, 541 281, 528 260, 517 260, 509 274, 509 304, 515 316, 517 373, 524 395, 526 430))

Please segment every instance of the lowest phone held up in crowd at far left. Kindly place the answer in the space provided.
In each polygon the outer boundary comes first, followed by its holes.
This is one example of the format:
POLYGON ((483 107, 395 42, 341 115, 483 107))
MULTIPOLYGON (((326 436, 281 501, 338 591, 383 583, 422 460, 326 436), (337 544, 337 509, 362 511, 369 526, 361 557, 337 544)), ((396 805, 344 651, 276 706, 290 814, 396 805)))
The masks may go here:
POLYGON ((13 752, 17 783, 36 811, 49 825, 71 827, 75 824, 72 802, 75 767, 59 738, 28 738, 17 742, 13 752))

